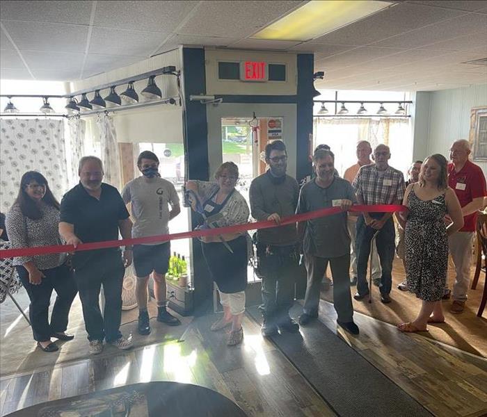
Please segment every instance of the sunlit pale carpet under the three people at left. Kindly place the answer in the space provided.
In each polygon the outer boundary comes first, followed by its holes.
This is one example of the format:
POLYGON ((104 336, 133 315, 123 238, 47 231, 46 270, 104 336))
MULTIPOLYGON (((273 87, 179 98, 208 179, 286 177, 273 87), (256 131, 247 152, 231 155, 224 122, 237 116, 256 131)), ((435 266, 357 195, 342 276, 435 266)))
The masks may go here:
MULTIPOLYGON (((22 307, 29 305, 29 298, 23 291, 16 295, 16 299, 22 307)), ((28 311, 27 309, 27 313, 28 311)), ((154 318, 157 316, 157 306, 154 300, 148 304, 148 311, 152 327, 152 332, 148 336, 141 336, 137 332, 138 309, 122 311, 120 332, 125 337, 131 337, 134 347, 182 340, 182 335, 191 318, 183 318, 174 313, 182 321, 182 325, 170 327, 157 322, 154 318)), ((6 300, 6 302, 1 304, 0 377, 13 373, 31 372, 34 369, 51 368, 59 363, 91 357, 88 353, 88 339, 79 297, 76 297, 73 302, 70 311, 70 322, 67 328, 67 333, 74 334, 74 340, 69 342, 57 341, 56 343, 60 347, 57 352, 42 352, 36 347, 32 338, 31 327, 19 315, 19 311, 10 300, 6 300)), ((116 347, 105 345, 104 351, 97 357, 110 356, 117 352, 119 351, 116 347)))

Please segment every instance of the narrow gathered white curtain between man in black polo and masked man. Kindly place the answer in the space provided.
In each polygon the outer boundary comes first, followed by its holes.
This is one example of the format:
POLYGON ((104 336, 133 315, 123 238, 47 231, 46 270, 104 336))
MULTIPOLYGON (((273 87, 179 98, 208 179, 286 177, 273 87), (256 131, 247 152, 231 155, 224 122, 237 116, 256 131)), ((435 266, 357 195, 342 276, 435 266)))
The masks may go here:
POLYGON ((99 142, 102 151, 104 182, 120 190, 120 152, 118 151, 117 133, 113 117, 103 113, 97 117, 99 142))

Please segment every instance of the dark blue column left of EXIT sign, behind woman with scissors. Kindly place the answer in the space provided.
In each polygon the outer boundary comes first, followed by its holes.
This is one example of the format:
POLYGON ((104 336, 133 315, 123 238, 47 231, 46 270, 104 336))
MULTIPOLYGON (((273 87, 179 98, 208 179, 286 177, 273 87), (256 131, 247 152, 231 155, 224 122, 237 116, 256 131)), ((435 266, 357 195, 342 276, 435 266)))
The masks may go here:
MULTIPOLYGON (((186 180, 208 181, 208 126, 207 109, 200 101, 189 101, 190 95, 206 93, 205 49, 183 48, 184 69, 184 163, 186 180)), ((201 222, 201 216, 191 211, 191 225, 201 222)), ((212 311, 213 282, 203 258, 201 243, 193 239, 193 304, 195 316, 212 311)))

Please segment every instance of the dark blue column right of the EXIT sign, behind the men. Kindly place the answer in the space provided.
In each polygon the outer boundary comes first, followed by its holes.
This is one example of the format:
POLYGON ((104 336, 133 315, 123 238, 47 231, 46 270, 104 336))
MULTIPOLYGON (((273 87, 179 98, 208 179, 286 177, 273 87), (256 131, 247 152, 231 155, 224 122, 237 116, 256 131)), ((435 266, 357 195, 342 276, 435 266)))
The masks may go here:
POLYGON ((296 100, 296 179, 301 183, 311 175, 310 134, 313 133, 313 54, 298 54, 298 97, 296 100))

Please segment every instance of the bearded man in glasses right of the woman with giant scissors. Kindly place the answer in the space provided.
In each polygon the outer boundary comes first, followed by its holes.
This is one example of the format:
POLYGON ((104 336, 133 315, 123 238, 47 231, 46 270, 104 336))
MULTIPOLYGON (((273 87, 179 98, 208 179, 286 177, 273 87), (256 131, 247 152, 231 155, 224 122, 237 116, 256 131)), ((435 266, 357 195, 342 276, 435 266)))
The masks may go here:
MULTIPOLYGON (((292 215, 298 203, 298 182, 286 174, 287 153, 281 140, 266 145, 269 170, 250 184, 250 209, 255 220, 273 220, 292 215)), ((294 279, 298 270, 296 224, 257 231, 258 272, 262 277, 262 335, 278 330, 297 332, 298 323, 289 317, 294 301, 294 279)))

